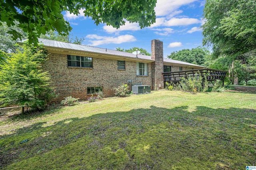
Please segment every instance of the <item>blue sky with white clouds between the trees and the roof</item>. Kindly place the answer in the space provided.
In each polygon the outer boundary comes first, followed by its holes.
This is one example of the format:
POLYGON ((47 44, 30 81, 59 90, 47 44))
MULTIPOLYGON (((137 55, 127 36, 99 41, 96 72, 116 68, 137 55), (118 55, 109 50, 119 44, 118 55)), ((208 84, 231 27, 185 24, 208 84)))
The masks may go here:
POLYGON ((84 45, 115 49, 140 47, 151 53, 151 40, 164 43, 164 58, 173 51, 192 49, 202 45, 202 14, 204 0, 158 0, 156 23, 140 29, 137 23, 126 22, 118 30, 106 24, 96 26, 91 18, 84 17, 82 10, 76 16, 64 12, 70 22, 72 36, 84 38, 84 45))

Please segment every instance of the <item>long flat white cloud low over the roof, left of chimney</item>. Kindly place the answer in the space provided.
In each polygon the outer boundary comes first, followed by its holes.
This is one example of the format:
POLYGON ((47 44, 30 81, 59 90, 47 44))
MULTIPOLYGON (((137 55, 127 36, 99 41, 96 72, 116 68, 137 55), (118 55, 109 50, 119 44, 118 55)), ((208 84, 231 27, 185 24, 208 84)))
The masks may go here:
POLYGON ((120 44, 125 42, 135 42, 136 38, 132 35, 124 35, 124 36, 118 36, 118 37, 107 37, 107 36, 98 36, 96 34, 89 34, 86 36, 88 39, 95 39, 95 40, 89 40, 90 44, 92 46, 102 45, 102 44, 120 44))

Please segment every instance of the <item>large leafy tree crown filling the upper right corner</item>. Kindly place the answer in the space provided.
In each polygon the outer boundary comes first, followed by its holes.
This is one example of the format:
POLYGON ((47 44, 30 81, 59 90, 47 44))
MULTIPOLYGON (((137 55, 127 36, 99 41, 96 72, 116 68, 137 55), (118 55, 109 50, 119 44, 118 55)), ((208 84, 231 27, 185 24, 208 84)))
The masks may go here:
POLYGON ((255 0, 206 0, 204 45, 212 45, 213 55, 236 59, 256 49, 255 0))

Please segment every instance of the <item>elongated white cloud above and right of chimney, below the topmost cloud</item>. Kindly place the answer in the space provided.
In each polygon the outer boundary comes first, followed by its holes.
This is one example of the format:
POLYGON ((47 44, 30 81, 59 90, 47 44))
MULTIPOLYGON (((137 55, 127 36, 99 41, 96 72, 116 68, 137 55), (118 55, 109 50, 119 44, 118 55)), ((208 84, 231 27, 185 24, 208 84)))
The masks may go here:
POLYGON ((201 23, 200 20, 196 18, 172 18, 167 22, 164 22, 166 26, 188 26, 191 24, 201 23))

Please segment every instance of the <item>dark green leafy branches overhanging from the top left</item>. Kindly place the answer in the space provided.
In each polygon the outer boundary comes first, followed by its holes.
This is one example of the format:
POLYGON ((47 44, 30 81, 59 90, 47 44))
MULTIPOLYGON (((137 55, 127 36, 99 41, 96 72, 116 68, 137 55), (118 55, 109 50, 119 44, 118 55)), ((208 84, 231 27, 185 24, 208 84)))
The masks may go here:
MULTIPOLYGON (((0 20, 8 26, 18 21, 28 33, 29 43, 36 45, 40 34, 53 30, 66 35, 71 31, 63 11, 77 15, 82 8, 96 25, 106 23, 119 28, 127 20, 143 28, 156 21, 155 6, 156 0, 6 0, 0 1, 0 20)), ((20 37, 16 30, 9 33, 14 40, 20 37)))

